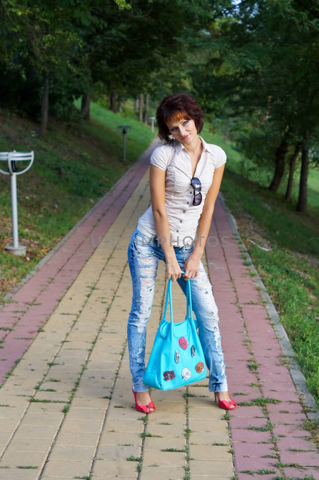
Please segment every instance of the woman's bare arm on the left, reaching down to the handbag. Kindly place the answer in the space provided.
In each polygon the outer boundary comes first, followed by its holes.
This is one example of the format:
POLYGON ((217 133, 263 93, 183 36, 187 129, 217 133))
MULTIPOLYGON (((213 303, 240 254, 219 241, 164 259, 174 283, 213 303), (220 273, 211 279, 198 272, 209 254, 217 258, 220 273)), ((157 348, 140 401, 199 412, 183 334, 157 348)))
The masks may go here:
POLYGON ((155 222, 155 231, 166 259, 166 278, 172 276, 175 280, 182 275, 172 247, 171 230, 165 210, 165 170, 154 165, 150 166, 149 188, 151 192, 152 211, 155 222))

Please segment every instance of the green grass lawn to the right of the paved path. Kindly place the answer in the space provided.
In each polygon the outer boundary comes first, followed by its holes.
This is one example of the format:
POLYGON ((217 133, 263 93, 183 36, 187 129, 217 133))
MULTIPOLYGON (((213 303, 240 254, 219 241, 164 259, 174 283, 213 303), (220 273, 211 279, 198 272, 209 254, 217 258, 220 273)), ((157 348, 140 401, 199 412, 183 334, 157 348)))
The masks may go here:
POLYGON ((308 214, 301 215, 294 210, 296 183, 294 201, 286 202, 285 184, 274 195, 267 189, 270 181, 265 175, 258 179, 260 183, 240 175, 241 156, 233 144, 205 128, 203 138, 227 154, 221 192, 319 407, 319 172, 311 172, 308 214), (250 240, 271 251, 259 249, 250 240))

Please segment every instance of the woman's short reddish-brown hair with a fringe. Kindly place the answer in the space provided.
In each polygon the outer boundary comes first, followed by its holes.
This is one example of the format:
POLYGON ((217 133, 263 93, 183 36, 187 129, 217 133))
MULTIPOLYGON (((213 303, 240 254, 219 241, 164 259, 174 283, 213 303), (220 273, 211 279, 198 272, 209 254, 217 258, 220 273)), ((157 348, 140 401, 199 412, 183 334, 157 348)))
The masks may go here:
POLYGON ((166 123, 172 120, 181 120, 183 117, 186 120, 194 120, 197 133, 199 133, 203 128, 203 115, 202 109, 190 95, 177 93, 165 97, 156 110, 159 138, 166 144, 170 142, 170 131, 166 123))

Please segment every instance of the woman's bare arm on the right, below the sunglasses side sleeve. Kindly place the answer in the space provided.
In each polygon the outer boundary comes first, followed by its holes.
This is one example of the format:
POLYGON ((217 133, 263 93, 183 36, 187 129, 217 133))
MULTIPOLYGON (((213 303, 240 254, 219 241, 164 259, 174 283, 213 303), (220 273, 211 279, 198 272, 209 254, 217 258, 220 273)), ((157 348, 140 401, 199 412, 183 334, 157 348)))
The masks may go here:
POLYGON ((198 232, 195 242, 195 248, 190 254, 184 265, 185 280, 193 278, 199 274, 199 261, 204 252, 205 244, 208 238, 211 219, 214 212, 215 202, 221 187, 221 179, 224 173, 225 164, 215 168, 212 184, 206 194, 205 204, 199 219, 198 232))

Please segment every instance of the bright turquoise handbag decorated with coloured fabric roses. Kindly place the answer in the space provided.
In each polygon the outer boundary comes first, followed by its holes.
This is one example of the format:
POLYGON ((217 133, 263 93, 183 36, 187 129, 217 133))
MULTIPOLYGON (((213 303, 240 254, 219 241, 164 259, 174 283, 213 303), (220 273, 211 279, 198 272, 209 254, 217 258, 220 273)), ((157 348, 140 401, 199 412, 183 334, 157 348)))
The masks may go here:
MULTIPOLYGON (((182 271, 182 273, 184 273, 182 271)), ((185 320, 174 324, 172 279, 168 281, 164 316, 159 324, 143 383, 159 390, 172 390, 206 378, 206 363, 193 318, 190 281, 186 280, 185 320), (171 322, 166 317, 170 299, 171 322)))

